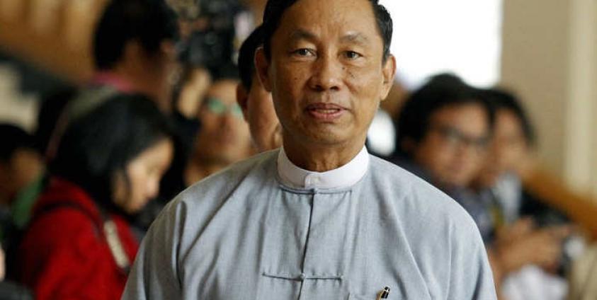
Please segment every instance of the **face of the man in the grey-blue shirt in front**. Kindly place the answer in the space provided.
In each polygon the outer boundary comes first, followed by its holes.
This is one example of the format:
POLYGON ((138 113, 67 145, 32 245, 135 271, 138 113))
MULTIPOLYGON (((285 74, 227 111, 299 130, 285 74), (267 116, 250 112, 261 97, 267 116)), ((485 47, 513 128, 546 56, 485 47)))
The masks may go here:
POLYGON ((394 77, 382 64, 383 41, 366 0, 300 0, 271 38, 271 60, 257 54, 285 143, 356 145, 394 77), (355 144, 356 143, 356 144, 355 144))

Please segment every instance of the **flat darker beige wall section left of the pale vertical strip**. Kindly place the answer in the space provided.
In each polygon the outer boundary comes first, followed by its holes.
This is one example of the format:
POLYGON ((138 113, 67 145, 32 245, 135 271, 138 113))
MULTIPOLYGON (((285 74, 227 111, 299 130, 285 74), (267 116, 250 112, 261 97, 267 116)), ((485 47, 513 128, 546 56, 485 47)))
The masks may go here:
POLYGON ((504 0, 501 84, 523 99, 538 129, 540 156, 564 170, 568 1, 504 0))

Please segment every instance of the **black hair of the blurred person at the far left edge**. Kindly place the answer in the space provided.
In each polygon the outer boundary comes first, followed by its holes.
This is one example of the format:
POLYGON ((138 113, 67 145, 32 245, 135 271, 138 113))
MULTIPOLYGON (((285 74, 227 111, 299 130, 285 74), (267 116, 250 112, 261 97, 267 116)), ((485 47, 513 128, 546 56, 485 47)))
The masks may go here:
POLYGON ((0 162, 8 163, 18 149, 35 150, 35 139, 17 125, 0 124, 0 162))

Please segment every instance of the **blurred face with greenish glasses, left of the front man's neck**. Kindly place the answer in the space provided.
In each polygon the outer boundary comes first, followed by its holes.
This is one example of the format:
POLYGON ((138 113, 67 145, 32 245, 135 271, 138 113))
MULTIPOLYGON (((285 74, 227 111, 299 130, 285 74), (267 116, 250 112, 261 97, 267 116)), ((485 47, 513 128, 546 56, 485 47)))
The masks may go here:
POLYGON ((237 103, 238 81, 215 81, 199 112, 201 129, 195 146, 200 161, 230 164, 250 154, 251 136, 237 103))

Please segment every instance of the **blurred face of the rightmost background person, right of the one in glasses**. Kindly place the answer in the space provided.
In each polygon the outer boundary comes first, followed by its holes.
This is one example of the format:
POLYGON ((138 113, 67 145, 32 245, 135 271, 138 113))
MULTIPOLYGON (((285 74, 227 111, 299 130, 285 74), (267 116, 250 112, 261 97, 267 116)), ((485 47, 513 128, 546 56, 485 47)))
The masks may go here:
POLYGON ((489 155, 479 172, 477 185, 482 188, 493 186, 499 176, 516 171, 527 154, 528 145, 521 120, 510 110, 498 110, 489 155))

